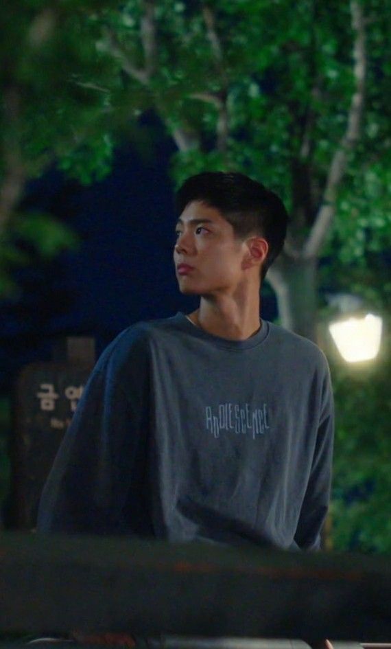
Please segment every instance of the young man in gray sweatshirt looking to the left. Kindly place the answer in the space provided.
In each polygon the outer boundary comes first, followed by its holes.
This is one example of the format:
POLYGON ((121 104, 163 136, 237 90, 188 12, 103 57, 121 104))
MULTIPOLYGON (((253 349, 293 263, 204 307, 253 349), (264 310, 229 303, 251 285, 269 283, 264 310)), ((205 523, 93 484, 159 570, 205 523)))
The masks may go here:
POLYGON ((329 369, 316 345, 259 317, 285 207, 243 174, 206 172, 182 185, 177 208, 176 277, 200 306, 132 325, 106 348, 38 530, 317 549, 331 483, 329 369))

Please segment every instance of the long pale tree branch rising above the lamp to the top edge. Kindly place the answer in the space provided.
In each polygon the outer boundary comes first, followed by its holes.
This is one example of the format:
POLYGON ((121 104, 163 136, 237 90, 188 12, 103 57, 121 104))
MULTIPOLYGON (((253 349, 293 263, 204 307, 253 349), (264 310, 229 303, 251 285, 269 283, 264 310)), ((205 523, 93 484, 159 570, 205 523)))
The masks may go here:
POLYGON ((351 16, 352 27, 355 31, 355 43, 353 46, 353 58, 355 61, 353 67, 355 91, 352 95, 351 107, 348 112, 346 131, 340 140, 340 144, 331 161, 326 187, 324 189, 322 206, 318 211, 318 216, 311 228, 307 242, 305 242, 303 247, 303 255, 306 258, 315 257, 318 254, 318 251, 327 236, 327 232, 331 227, 335 215, 337 190, 340 187, 342 177, 346 171, 348 152, 353 150, 357 140, 359 139, 359 131, 364 109, 366 43, 364 14, 362 6, 357 0, 351 0, 351 16))

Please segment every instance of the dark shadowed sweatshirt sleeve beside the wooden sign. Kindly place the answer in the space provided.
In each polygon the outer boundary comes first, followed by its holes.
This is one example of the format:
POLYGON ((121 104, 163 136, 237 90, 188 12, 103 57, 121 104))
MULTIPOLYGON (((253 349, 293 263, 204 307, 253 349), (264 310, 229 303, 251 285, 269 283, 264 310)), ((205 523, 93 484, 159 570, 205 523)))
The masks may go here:
POLYGON ((145 337, 126 330, 106 348, 86 383, 43 489, 38 532, 142 529, 147 378, 145 337))

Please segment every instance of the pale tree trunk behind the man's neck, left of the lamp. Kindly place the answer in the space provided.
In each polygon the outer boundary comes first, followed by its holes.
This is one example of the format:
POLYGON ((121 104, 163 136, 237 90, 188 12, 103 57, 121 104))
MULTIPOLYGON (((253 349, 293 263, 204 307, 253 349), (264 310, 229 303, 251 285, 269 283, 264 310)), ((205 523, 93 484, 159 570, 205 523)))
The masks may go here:
POLYGON ((276 293, 281 325, 316 342, 317 260, 285 253, 266 275, 276 293))

